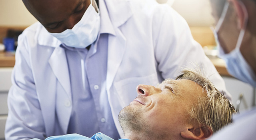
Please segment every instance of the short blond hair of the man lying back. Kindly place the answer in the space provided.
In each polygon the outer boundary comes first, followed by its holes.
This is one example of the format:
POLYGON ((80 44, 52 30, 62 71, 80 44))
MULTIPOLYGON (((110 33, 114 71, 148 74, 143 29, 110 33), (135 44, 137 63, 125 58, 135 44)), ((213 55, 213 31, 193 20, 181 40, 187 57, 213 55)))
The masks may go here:
POLYGON ((207 96, 198 97, 198 102, 192 105, 188 116, 190 122, 211 130, 213 133, 232 123, 235 108, 228 99, 204 76, 203 70, 185 69, 176 80, 187 79, 202 86, 207 96))

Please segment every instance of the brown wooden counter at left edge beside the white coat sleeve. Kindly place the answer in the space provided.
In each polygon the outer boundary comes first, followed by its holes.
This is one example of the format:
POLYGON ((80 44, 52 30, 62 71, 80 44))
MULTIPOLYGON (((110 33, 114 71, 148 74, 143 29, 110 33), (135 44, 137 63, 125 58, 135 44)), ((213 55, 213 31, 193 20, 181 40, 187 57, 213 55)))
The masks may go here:
POLYGON ((0 67, 13 67, 15 64, 14 52, 0 52, 0 67))

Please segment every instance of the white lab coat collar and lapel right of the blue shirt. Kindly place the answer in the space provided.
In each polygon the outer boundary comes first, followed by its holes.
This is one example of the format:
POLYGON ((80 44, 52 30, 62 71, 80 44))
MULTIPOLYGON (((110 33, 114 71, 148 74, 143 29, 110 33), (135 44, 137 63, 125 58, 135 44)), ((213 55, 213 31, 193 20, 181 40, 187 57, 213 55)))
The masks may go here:
POLYGON ((129 1, 127 0, 105 0, 105 4, 115 30, 115 34, 109 34, 108 36, 106 86, 109 91, 126 49, 126 38, 119 27, 125 24, 125 22, 132 16, 132 10, 129 1))

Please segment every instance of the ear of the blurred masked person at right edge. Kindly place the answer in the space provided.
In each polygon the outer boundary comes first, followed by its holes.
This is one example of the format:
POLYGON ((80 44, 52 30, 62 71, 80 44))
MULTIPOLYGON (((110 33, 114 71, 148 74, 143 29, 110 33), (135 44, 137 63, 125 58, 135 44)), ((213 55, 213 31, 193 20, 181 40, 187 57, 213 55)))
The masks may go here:
POLYGON ((243 2, 240 0, 229 0, 232 5, 234 5, 234 10, 237 14, 237 22, 238 22, 238 29, 241 30, 246 24, 246 18, 248 18, 248 12, 243 2))

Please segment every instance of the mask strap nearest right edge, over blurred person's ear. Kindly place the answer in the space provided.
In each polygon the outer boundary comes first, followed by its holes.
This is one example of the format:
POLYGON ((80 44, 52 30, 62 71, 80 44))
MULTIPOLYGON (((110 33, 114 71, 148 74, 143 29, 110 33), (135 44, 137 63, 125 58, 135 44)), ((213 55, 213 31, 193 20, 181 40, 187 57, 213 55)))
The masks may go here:
POLYGON ((247 22, 248 22, 248 12, 246 10, 246 7, 245 7, 244 3, 242 3, 241 1, 239 1, 239 3, 241 4, 242 10, 244 12, 244 24, 243 24, 242 29, 240 31, 240 34, 238 36, 238 40, 236 42, 236 48, 235 49, 240 49, 240 47, 241 47, 241 44, 242 44, 242 41, 243 41, 243 38, 244 38, 244 34, 245 34, 245 30, 246 30, 246 26, 247 26, 247 22))

